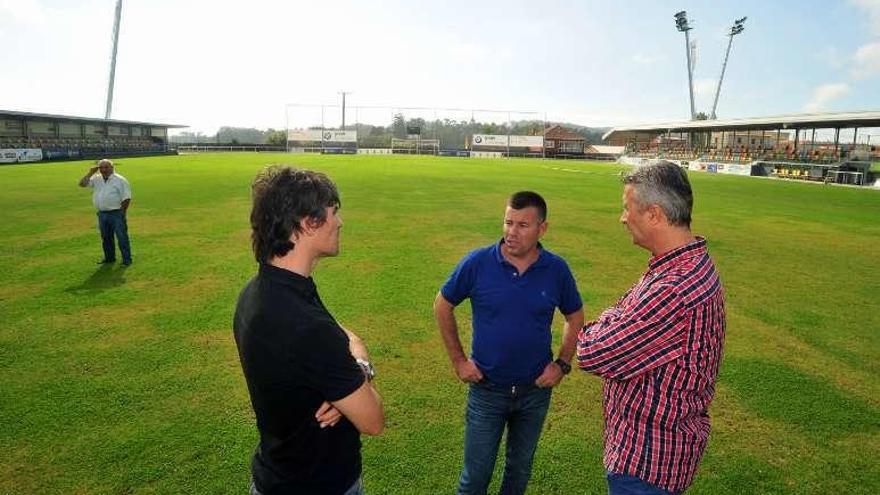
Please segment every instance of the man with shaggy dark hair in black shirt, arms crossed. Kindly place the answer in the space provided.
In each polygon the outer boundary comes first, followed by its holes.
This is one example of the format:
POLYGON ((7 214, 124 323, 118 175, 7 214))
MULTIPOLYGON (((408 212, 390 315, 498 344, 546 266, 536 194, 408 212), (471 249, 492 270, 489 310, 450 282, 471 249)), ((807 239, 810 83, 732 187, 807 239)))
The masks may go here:
POLYGON ((339 194, 327 176, 270 167, 253 183, 259 272, 233 330, 260 443, 251 494, 362 494, 360 434, 385 426, 363 341, 336 322, 311 278, 339 252, 339 194))

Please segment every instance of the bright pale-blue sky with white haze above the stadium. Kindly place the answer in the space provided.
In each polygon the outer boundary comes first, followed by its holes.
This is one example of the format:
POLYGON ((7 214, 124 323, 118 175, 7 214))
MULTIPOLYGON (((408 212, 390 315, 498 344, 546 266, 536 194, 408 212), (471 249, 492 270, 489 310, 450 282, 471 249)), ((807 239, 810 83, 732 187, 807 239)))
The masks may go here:
MULTIPOLYGON (((0 0, 0 109, 102 117, 115 4, 0 0)), ((112 118, 283 129, 314 118, 291 104, 338 105, 346 91, 349 108, 686 120, 679 10, 697 44, 697 111, 711 111, 743 16, 719 118, 880 110, 880 0, 123 0, 112 118)))

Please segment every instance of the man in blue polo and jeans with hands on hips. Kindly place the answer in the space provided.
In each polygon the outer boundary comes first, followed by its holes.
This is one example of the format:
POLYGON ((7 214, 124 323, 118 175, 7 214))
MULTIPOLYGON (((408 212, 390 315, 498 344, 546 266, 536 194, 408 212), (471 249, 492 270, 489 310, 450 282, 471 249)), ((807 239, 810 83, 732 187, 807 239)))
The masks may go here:
POLYGON ((434 315, 458 378, 469 384, 464 467, 459 494, 484 494, 505 427, 502 494, 521 494, 552 387, 571 371, 583 303, 565 261, 538 242, 547 232, 547 204, 537 193, 515 193, 504 212, 504 236, 468 253, 440 289, 434 315), (471 357, 461 346, 455 307, 473 309, 471 357), (554 361, 550 325, 565 317, 554 361))

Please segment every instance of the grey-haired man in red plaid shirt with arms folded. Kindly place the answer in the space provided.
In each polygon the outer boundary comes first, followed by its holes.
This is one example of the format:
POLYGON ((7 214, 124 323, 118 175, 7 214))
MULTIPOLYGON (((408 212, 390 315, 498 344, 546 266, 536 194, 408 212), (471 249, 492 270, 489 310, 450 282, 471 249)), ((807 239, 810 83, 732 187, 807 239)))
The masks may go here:
POLYGON ((605 382, 609 493, 681 493, 709 438, 724 289, 706 240, 690 231, 687 173, 660 162, 623 182, 620 221, 652 257, 638 283, 581 330, 578 365, 605 382))

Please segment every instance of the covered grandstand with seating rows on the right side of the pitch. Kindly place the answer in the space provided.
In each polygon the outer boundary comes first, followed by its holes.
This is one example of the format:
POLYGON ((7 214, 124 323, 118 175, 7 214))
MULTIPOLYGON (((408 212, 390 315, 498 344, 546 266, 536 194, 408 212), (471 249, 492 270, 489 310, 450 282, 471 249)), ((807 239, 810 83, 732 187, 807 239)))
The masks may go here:
POLYGON ((625 147, 625 163, 663 158, 691 170, 866 185, 880 143, 865 131, 877 127, 876 111, 798 114, 615 127, 603 140, 625 147))

